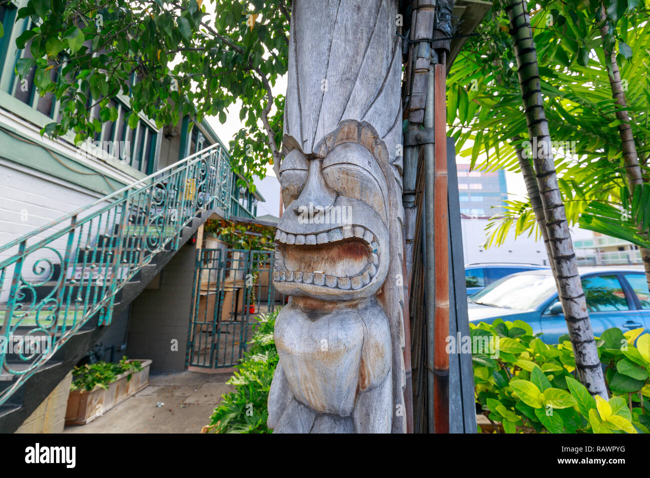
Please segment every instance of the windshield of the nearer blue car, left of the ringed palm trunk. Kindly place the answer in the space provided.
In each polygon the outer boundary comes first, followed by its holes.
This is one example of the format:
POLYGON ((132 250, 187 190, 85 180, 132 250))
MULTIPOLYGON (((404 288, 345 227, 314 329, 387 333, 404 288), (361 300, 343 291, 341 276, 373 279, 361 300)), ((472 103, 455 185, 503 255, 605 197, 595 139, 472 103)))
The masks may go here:
POLYGON ((475 293, 470 300, 476 304, 527 310, 538 306, 556 293, 555 280, 546 274, 517 274, 497 280, 475 293))

